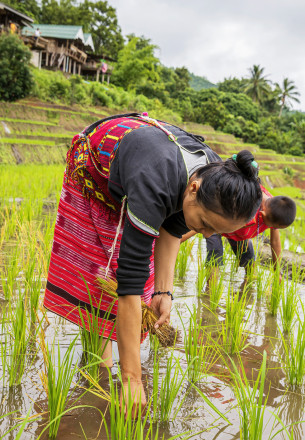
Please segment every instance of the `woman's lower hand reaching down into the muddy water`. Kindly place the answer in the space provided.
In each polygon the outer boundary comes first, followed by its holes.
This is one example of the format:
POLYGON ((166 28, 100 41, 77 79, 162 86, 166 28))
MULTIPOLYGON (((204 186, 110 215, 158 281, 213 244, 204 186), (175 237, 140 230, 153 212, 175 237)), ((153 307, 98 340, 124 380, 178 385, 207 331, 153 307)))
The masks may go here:
POLYGON ((122 408, 123 405, 123 395, 124 395, 124 414, 125 418, 129 414, 133 419, 138 417, 139 414, 139 405, 141 407, 140 413, 143 414, 147 401, 145 396, 145 391, 143 387, 143 383, 141 380, 123 378, 122 389, 120 394, 120 406, 122 408), (123 394, 124 393, 124 394, 123 394), (129 397, 131 401, 129 401, 129 397), (132 404, 132 409, 130 411, 130 405, 132 404), (129 409, 129 414, 128 413, 129 409))

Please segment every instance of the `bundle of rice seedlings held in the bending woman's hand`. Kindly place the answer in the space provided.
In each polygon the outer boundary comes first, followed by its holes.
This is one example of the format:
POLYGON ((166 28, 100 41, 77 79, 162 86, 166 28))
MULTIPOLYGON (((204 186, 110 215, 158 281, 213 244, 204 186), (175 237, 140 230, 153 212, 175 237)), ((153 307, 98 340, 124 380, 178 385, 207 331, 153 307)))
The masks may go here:
MULTIPOLYGON (((118 298, 118 294, 116 293, 117 282, 110 277, 98 277, 97 282, 101 287, 102 294, 105 292, 107 295, 112 298, 118 298)), ((155 324, 158 321, 158 317, 155 312, 145 304, 144 301, 141 301, 142 307, 142 331, 149 331, 150 333, 157 336, 160 341, 160 344, 163 347, 171 347, 174 345, 177 330, 174 329, 171 325, 163 324, 159 328, 155 328, 155 324)))

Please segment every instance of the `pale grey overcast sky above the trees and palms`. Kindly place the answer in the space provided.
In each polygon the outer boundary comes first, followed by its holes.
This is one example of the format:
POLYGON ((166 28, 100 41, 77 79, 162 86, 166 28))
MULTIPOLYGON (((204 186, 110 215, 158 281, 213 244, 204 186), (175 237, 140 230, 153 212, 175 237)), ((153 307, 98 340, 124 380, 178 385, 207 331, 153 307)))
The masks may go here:
POLYGON ((254 64, 268 79, 288 77, 305 111, 304 0, 108 0, 124 35, 144 35, 168 67, 186 66, 217 83, 249 75, 254 64))

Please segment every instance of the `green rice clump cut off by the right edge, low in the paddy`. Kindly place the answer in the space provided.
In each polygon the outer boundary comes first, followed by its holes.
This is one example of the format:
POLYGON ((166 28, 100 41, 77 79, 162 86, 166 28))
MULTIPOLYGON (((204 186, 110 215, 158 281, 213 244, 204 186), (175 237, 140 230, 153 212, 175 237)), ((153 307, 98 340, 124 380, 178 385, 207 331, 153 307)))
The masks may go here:
MULTIPOLYGON (((301 304, 301 303, 300 303, 301 304)), ((302 305, 304 312, 304 306, 302 305)), ((284 367, 288 383, 292 386, 300 386, 304 383, 305 375, 305 321, 298 316, 296 336, 291 331, 288 340, 280 331, 284 356, 281 361, 284 367)))

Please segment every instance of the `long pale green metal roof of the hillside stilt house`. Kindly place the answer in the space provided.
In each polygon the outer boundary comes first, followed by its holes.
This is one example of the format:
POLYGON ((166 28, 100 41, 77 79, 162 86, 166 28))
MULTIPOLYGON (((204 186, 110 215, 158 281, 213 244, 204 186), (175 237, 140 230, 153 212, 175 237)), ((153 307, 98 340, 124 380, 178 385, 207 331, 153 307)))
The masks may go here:
POLYGON ((80 39, 85 44, 83 28, 81 26, 66 26, 63 24, 33 24, 32 27, 25 27, 23 35, 34 35, 36 29, 40 30, 40 35, 45 38, 56 38, 62 40, 80 39))

